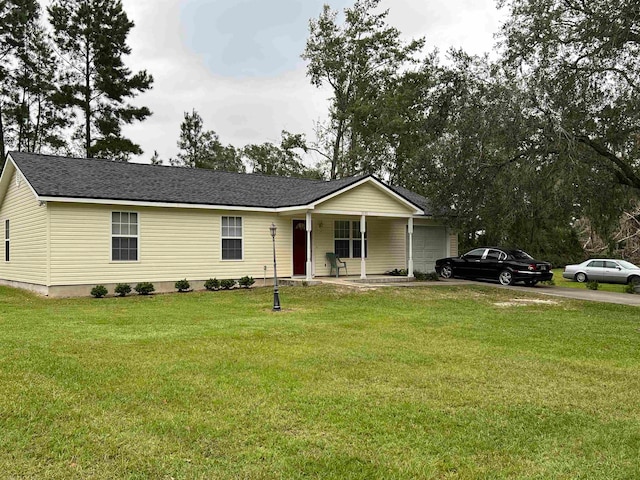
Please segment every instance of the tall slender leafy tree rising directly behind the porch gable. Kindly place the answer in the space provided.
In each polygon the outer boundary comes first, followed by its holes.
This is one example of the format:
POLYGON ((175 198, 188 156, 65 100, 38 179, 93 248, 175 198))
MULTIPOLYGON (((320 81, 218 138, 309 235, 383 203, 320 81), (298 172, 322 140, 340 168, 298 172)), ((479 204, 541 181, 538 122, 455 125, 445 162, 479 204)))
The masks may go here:
POLYGON ((302 58, 317 87, 332 89, 330 120, 333 132, 331 178, 362 171, 357 165, 361 141, 358 112, 371 104, 386 78, 414 63, 423 40, 404 43, 400 32, 387 25, 388 11, 376 12, 380 0, 356 0, 344 10, 344 23, 328 5, 309 24, 310 36, 302 58))

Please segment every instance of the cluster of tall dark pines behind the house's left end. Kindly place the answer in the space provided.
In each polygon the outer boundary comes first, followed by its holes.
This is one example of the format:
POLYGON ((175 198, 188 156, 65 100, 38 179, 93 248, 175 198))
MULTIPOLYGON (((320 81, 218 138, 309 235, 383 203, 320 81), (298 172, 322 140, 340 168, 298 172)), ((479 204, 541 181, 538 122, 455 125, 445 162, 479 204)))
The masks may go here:
POLYGON ((131 100, 151 88, 124 57, 133 28, 120 1, 0 1, 0 154, 82 152, 128 160, 122 126, 151 115, 131 100))

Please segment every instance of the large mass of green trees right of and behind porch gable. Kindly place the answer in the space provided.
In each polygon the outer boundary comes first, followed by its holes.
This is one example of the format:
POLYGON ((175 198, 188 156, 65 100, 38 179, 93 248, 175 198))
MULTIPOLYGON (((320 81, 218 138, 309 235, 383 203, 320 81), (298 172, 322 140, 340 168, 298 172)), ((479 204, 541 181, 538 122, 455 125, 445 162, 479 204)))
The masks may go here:
POLYGON ((371 173, 425 195, 463 248, 562 263, 583 253, 578 220, 611 239, 638 211, 640 4, 497 3, 509 13, 497 59, 449 50, 444 61, 425 39, 402 40, 380 0, 342 15, 325 6, 303 54, 333 94, 315 146, 330 178, 371 173))

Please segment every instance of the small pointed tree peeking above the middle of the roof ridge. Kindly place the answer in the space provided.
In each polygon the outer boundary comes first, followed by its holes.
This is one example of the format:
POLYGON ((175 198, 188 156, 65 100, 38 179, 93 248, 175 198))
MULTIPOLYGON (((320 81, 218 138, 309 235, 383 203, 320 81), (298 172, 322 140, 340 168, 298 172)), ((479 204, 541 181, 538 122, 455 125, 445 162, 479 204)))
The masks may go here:
POLYGON ((184 113, 178 139, 177 164, 191 168, 208 168, 226 172, 244 172, 241 152, 224 146, 213 130, 205 130, 202 117, 193 110, 184 113))

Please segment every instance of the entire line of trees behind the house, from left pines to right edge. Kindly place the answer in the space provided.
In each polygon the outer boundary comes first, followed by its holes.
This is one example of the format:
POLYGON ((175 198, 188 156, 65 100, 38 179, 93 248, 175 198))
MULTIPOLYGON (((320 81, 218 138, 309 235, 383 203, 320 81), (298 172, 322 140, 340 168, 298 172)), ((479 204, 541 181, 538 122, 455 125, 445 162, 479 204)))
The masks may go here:
MULTIPOLYGON (((425 51, 380 0, 325 6, 309 23, 310 82, 329 88, 314 138, 236 148, 185 112, 168 163, 274 175, 374 174, 423 194, 461 244, 582 254, 578 229, 615 238, 640 191, 640 5, 630 0, 497 0, 494 55, 425 51), (309 168, 303 155, 313 152, 309 168)), ((8 148, 128 160, 122 126, 151 112, 129 70, 120 1, 0 0, 0 154, 8 148), (48 27, 48 28, 47 28, 48 27), (50 33, 48 33, 50 32, 50 33)), ((157 153, 152 162, 161 163, 157 153)), ((605 243, 607 243, 605 241, 605 243)), ((609 250, 620 247, 608 242, 609 250)), ((553 260, 553 258, 551 258, 553 260)))

